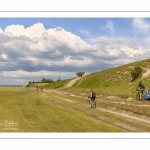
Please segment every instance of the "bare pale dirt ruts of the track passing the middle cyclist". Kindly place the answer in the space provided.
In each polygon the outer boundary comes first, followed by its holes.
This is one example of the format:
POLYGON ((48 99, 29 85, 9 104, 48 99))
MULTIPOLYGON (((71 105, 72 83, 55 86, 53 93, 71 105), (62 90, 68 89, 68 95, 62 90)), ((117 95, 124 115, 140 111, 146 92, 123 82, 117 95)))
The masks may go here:
MULTIPOLYGON (((42 93, 42 96, 45 97, 46 99, 51 100, 50 98, 48 98, 46 96, 46 93, 50 93, 50 91, 51 90, 44 90, 43 93, 42 93)), ((58 92, 58 91, 55 91, 55 92, 57 92, 58 94, 62 94, 61 92, 58 92)), ((65 95, 65 93, 63 93, 63 95, 65 95)), ((57 99, 58 97, 56 96, 55 98, 57 99)), ((59 99, 60 99, 60 97, 59 97, 59 99)), ((69 103, 75 103, 73 100, 66 99, 66 98, 61 98, 61 100, 62 101, 67 101, 69 103)), ((53 101, 55 101, 55 100, 53 100, 53 101)), ((56 102, 56 103, 58 103, 58 102, 56 102)), ((62 105, 64 105, 64 104, 62 104, 62 105)), ((88 105, 85 105, 85 104, 80 104, 80 105, 89 107, 88 105)), ((71 107, 71 106, 68 105, 67 107, 71 107)), ((79 111, 79 109, 77 107, 76 108, 74 107, 73 109, 76 109, 76 110, 79 111)), ((146 124, 150 124, 150 118, 145 118, 145 116, 138 116, 138 117, 136 117, 136 116, 133 116, 133 115, 130 115, 130 114, 127 114, 127 113, 121 113, 121 112, 117 112, 117 111, 114 111, 114 110, 108 110, 108 109, 104 109, 104 108, 100 108, 100 107, 97 107, 96 109, 100 110, 100 111, 103 111, 103 112, 110 113, 110 114, 114 114, 114 115, 117 115, 117 116, 125 117, 125 118, 128 118, 128 119, 133 119, 133 120, 136 120, 138 122, 144 122, 146 124)), ((80 110, 80 112, 85 113, 85 112, 83 112, 81 110, 80 110)), ((86 112, 86 114, 90 115, 91 117, 94 117, 94 118, 100 119, 102 121, 108 122, 109 124, 113 124, 113 125, 118 126, 118 124, 109 122, 108 120, 106 121, 105 119, 102 119, 100 116, 97 116, 97 115, 94 115, 94 114, 90 114, 90 113, 87 113, 87 112, 86 112)), ((121 127, 124 128, 124 129, 128 128, 127 126, 125 127, 124 125, 121 125, 121 127)), ((130 127, 127 130, 133 131, 134 129, 131 129, 131 127, 130 127)))

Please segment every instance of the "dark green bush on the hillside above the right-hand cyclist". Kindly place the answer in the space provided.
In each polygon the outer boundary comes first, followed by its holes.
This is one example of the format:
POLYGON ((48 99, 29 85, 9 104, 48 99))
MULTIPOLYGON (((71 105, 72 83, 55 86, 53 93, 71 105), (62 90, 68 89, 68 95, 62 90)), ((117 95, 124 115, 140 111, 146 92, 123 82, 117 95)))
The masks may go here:
POLYGON ((142 75, 142 68, 141 67, 135 67, 134 70, 131 71, 132 81, 139 78, 142 75))

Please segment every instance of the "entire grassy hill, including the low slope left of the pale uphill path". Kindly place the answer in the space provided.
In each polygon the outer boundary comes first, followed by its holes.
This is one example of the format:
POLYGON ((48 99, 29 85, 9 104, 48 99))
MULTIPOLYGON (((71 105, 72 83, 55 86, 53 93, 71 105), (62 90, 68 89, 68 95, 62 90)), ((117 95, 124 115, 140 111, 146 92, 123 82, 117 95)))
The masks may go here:
MULTIPOLYGON (((93 72, 78 80, 72 87, 64 88, 67 92, 85 94, 93 89, 97 95, 117 96, 119 98, 134 98, 137 93, 136 87, 141 81, 145 84, 146 89, 150 89, 150 59, 129 63, 126 65, 93 72), (135 67, 142 68, 142 76, 131 82, 131 71, 135 67), (146 75, 147 74, 147 75, 146 75), (80 84, 78 84, 80 82, 80 84)), ((71 79, 62 80, 46 85, 46 88, 61 87, 67 84, 71 79)))

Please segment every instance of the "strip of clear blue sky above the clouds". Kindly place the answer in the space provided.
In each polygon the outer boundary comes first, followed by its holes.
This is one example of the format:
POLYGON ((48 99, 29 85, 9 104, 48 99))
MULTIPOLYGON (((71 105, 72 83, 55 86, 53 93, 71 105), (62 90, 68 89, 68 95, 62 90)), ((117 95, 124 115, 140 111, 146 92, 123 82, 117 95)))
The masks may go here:
POLYGON ((1 18, 1 29, 12 24, 20 24, 25 28, 35 23, 43 23, 46 29, 61 27, 67 31, 86 38, 89 36, 133 36, 132 18, 1 18), (112 21, 113 20, 113 21, 112 21), (108 28, 104 28, 110 22, 110 26, 115 27, 116 32, 112 33, 108 28), (86 34, 87 32, 87 34, 86 34))

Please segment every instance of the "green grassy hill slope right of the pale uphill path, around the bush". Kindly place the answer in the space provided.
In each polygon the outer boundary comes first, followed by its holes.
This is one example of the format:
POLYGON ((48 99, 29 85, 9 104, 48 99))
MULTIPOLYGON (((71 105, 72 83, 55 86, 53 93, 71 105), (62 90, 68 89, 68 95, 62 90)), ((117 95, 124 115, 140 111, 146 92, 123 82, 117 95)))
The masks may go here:
POLYGON ((98 93, 108 95, 132 95, 139 81, 143 82, 146 89, 150 89, 150 76, 143 78, 143 74, 150 69, 150 59, 122 65, 107 70, 94 72, 83 78, 76 88, 95 89, 98 93), (131 71, 135 67, 141 67, 142 76, 133 82, 131 71))

